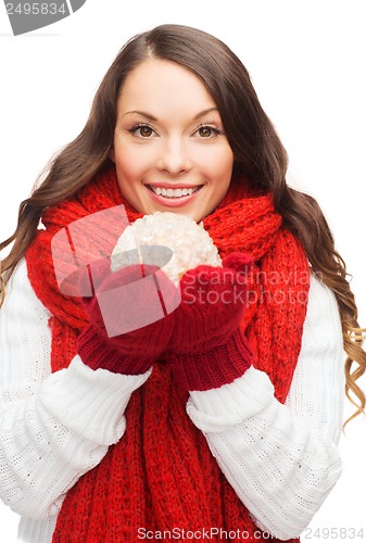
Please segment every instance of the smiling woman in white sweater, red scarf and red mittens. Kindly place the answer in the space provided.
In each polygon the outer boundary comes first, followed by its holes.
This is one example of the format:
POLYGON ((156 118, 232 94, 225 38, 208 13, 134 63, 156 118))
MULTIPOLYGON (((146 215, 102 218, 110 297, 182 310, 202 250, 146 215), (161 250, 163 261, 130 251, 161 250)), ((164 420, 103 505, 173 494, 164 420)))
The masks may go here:
POLYGON ((311 521, 341 471, 343 346, 355 415, 366 358, 343 261, 286 171, 247 70, 219 40, 164 25, 122 49, 1 245, 14 241, 1 495, 25 541, 295 540, 311 521), (156 211, 203 220, 224 268, 189 270, 175 312, 109 338, 94 298, 59 289, 52 239, 121 204, 130 223, 156 211))

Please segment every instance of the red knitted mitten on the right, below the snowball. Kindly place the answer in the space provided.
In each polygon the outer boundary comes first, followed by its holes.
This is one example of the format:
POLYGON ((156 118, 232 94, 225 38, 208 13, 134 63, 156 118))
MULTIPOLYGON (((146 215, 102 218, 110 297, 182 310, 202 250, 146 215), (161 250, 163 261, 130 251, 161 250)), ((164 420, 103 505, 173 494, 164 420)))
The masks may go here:
POLYGON ((187 390, 219 388, 251 366, 252 351, 240 328, 251 266, 248 255, 232 253, 222 268, 201 265, 182 276, 166 359, 187 390))

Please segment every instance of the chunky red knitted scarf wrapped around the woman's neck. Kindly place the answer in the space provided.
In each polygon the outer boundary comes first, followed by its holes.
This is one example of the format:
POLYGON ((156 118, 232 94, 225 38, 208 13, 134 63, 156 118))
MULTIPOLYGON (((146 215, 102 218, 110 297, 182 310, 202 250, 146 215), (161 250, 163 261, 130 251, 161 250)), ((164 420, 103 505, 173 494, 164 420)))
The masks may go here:
MULTIPOLYGON (((308 265, 300 243, 281 226, 270 195, 249 194, 241 181, 231 182, 204 226, 222 256, 238 250, 253 256, 243 327, 254 366, 268 374, 283 403, 301 349, 308 265)), ((58 288, 51 239, 76 219, 122 203, 129 222, 140 216, 122 198, 114 165, 108 165, 73 200, 46 211, 46 230, 37 231, 27 251, 30 282, 52 315, 52 371, 67 367, 75 356, 87 318, 80 299, 63 295, 58 288)), ((231 532, 235 542, 268 541, 267 534, 258 539, 257 527, 219 470, 206 439, 187 416, 187 399, 188 393, 173 384, 169 367, 156 361, 150 378, 130 397, 121 441, 67 492, 54 543, 135 543, 139 528, 154 531, 153 541, 162 539, 156 531, 211 528, 231 532)), ((195 535, 194 541, 206 540, 195 535)))

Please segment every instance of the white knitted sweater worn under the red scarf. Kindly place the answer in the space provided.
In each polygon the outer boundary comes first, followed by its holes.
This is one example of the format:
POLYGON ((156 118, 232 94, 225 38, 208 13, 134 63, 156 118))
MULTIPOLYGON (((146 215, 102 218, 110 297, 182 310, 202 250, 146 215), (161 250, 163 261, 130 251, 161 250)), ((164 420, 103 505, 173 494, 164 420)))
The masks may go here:
MULTIPOLYGON (((0 497, 23 517, 21 541, 33 543, 51 541, 65 493, 123 437, 128 400, 150 375, 93 371, 78 356, 51 374, 48 319, 22 261, 0 311, 0 497)), ((285 405, 254 368, 190 394, 187 413, 220 469, 279 539, 304 530, 341 473, 343 363, 336 298, 313 276, 285 405)))

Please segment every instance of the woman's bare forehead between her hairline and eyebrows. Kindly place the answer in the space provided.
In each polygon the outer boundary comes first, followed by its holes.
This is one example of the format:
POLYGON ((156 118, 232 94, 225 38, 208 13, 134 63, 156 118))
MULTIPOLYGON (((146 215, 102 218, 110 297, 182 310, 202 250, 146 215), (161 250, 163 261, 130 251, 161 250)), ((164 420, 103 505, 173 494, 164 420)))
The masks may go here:
POLYGON ((201 79, 190 70, 175 62, 153 59, 130 72, 118 99, 118 108, 126 111, 179 106, 197 112, 215 105, 201 79))

